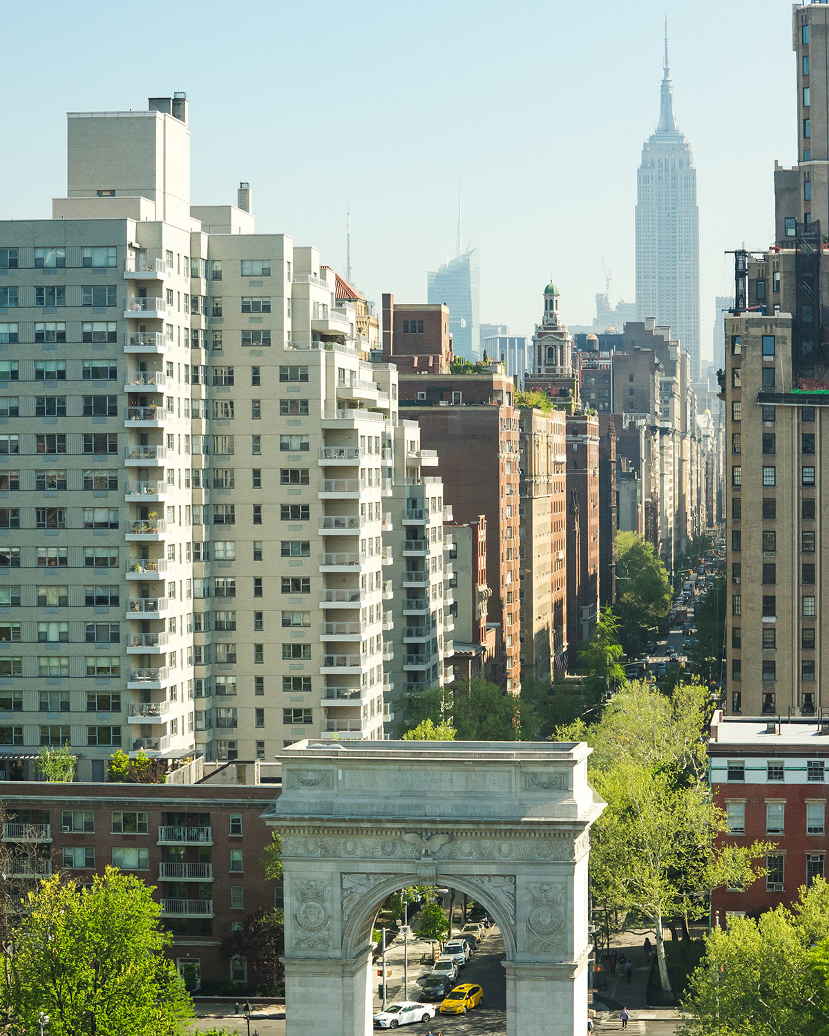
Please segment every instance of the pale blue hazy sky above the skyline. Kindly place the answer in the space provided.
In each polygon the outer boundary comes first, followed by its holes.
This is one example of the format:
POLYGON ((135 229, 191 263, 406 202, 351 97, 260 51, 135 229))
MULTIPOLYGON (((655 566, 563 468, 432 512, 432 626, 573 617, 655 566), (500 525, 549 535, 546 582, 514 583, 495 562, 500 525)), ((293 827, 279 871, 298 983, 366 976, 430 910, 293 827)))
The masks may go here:
POLYGON ((65 113, 190 99, 192 200, 254 192, 256 229, 313 244, 380 303, 481 250, 481 320, 531 335, 552 278, 570 324, 635 297, 641 145, 659 116, 667 17, 677 122, 697 170, 701 339, 728 249, 773 237, 775 160, 796 161, 787 0, 111 0, 6 6, 0 219, 65 194, 65 113))

